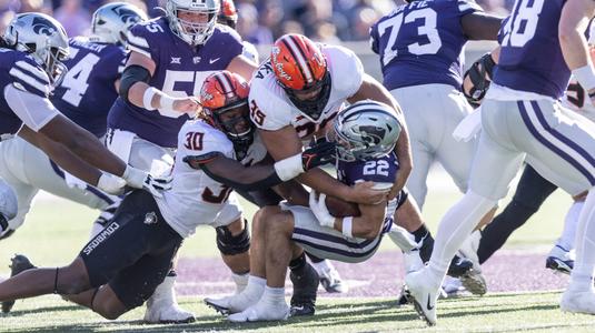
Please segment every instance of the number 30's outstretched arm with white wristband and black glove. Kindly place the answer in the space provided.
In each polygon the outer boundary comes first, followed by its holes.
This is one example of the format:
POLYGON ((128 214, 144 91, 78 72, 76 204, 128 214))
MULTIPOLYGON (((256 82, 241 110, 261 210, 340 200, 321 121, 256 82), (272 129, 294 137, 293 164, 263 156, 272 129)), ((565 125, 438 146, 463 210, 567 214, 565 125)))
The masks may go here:
POLYGON ((330 162, 335 144, 325 142, 282 159, 272 165, 244 167, 240 162, 225 157, 221 152, 189 155, 184 162, 202 170, 211 179, 240 191, 259 191, 278 185, 298 174, 330 162))

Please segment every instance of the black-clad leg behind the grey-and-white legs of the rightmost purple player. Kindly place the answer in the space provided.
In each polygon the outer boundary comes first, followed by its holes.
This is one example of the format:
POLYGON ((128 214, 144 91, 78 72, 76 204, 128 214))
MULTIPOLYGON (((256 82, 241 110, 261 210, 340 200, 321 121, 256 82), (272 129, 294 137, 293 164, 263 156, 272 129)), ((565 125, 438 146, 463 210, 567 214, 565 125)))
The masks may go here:
POLYGON ((530 165, 526 165, 513 200, 482 232, 477 256, 479 263, 499 250, 508 236, 539 210, 544 201, 557 189, 530 165))

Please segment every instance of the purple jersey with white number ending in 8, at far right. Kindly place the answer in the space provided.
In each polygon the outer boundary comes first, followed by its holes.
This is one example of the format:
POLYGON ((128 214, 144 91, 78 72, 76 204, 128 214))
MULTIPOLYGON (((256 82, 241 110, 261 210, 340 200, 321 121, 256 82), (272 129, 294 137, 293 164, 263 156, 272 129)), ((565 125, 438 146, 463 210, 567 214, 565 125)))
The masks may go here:
POLYGON ((558 40, 565 0, 517 0, 500 28, 500 57, 494 82, 554 99, 564 95, 571 70, 558 40))

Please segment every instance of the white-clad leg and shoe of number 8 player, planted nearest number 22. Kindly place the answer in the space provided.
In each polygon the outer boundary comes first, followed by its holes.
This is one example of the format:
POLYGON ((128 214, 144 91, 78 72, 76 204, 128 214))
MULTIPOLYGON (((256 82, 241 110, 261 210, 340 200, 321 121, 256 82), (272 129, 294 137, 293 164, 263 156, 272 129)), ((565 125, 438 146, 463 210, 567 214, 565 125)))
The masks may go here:
POLYGON ((469 190, 440 221, 428 266, 405 278, 411 301, 429 324, 436 323, 438 290, 450 260, 482 218, 506 194, 523 162, 524 154, 509 142, 506 123, 502 122, 502 112, 512 107, 512 102, 484 102, 484 131, 472 167, 469 190), (494 165, 498 165, 496 174, 494 165))

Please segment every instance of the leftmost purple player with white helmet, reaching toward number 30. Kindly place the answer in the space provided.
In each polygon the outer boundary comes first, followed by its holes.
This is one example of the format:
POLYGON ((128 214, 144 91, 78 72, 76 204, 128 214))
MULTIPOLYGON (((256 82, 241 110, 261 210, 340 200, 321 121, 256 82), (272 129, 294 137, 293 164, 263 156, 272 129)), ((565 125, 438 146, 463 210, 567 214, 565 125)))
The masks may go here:
MULTIPOLYGON (((65 170, 106 192, 119 194, 128 183, 157 193, 160 181, 123 163, 91 133, 58 112, 48 100, 50 91, 66 74, 62 60, 69 54, 68 38, 58 21, 41 13, 19 14, 7 27, 1 42, 4 91, 3 107, 0 108, 1 140, 9 140, 17 133, 42 149, 65 170)), ((9 212, 0 212, 2 230, 8 229, 7 220, 17 214, 17 204, 9 208, 9 212)))

